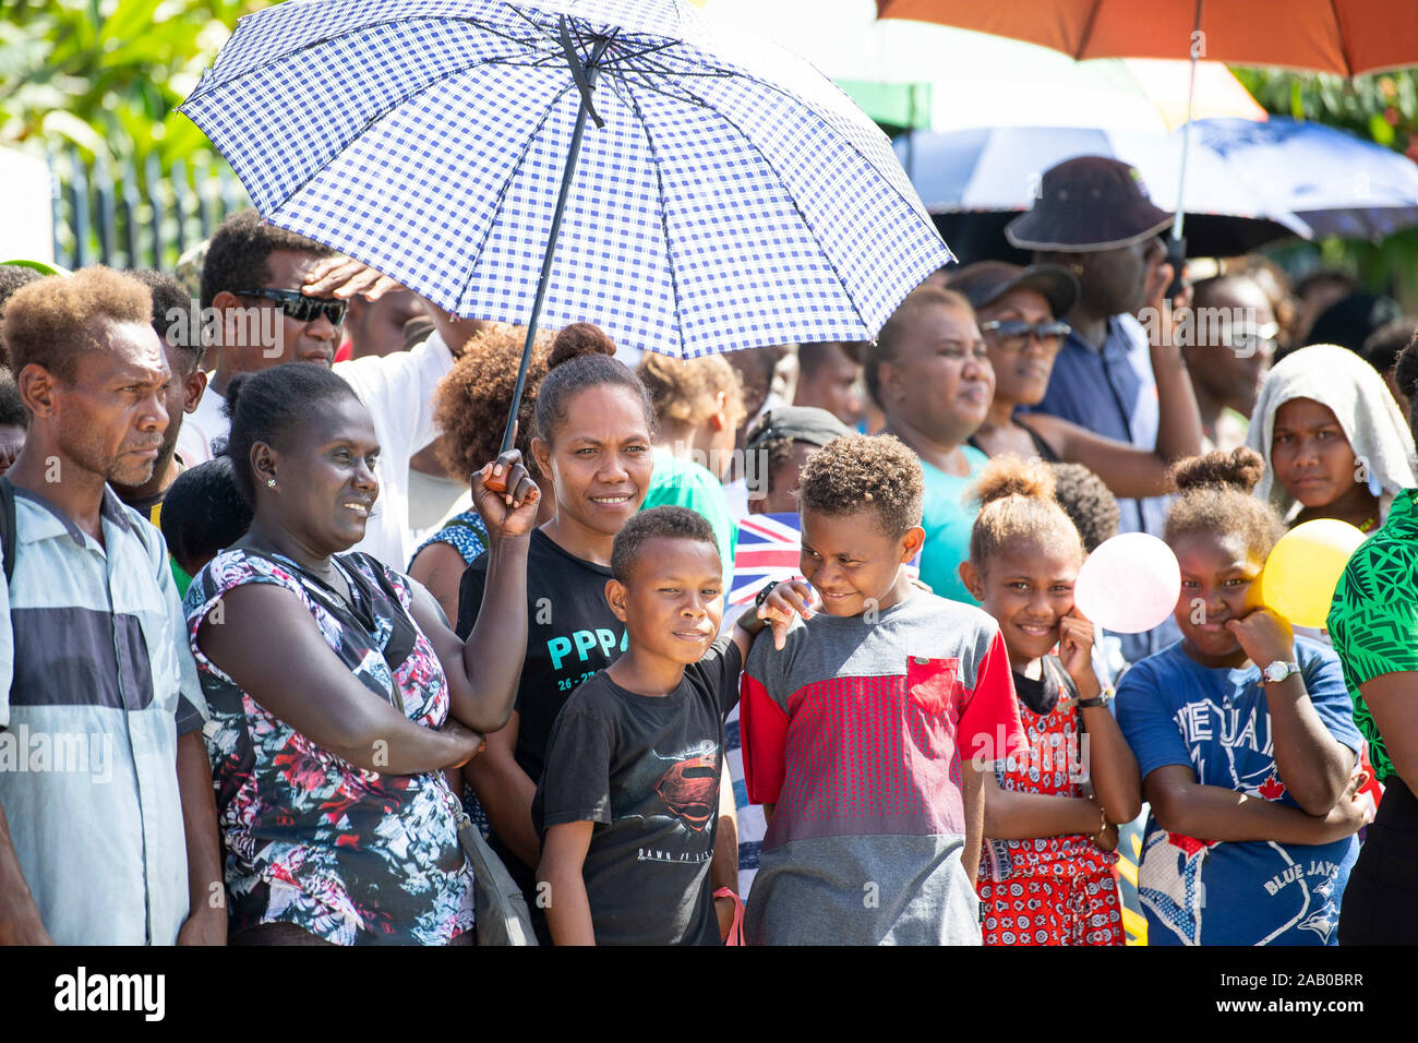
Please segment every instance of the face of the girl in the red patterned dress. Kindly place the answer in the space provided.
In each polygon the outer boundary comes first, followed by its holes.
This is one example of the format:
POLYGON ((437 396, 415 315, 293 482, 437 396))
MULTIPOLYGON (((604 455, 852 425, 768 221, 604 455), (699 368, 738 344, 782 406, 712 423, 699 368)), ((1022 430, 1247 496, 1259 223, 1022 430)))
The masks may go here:
POLYGON ((1015 539, 986 562, 984 573, 967 579, 970 593, 1000 623, 1015 668, 1048 656, 1059 643, 1059 620, 1073 610, 1078 569, 1078 548, 1015 539))

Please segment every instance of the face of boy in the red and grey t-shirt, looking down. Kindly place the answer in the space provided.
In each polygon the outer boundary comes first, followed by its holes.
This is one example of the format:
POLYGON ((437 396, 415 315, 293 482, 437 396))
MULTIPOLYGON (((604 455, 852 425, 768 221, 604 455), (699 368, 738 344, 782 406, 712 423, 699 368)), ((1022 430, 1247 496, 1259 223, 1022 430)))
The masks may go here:
POLYGON ((889 609, 905 587, 902 565, 920 551, 925 531, 905 536, 882 531, 876 511, 828 515, 803 508, 803 555, 798 568, 822 599, 828 616, 861 616, 869 607, 889 609))

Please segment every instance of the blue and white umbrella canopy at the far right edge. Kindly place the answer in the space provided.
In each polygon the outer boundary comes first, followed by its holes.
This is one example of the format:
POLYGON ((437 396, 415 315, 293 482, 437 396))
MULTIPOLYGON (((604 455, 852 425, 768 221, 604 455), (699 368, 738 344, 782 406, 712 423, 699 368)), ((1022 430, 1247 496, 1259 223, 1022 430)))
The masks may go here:
POLYGON ((1282 116, 1202 119, 1193 135, 1316 236, 1380 240, 1418 224, 1418 163, 1383 145, 1282 116))

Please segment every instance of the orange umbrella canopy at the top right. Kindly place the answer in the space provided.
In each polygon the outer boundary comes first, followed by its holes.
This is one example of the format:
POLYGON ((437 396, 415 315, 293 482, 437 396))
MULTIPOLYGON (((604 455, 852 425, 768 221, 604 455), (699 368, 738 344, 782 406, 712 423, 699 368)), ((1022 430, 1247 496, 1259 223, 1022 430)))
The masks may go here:
POLYGON ((917 18, 1028 40, 1073 58, 1195 57, 1357 77, 1418 62, 1412 0, 878 0, 917 18))

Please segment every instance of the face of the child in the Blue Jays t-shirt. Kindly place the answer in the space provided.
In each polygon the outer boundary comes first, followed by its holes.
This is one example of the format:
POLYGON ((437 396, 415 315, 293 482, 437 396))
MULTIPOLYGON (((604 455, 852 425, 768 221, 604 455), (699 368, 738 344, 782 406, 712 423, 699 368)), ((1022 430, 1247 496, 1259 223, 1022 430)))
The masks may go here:
POLYGON ((1202 663, 1234 657, 1241 643, 1225 623, 1255 607, 1252 585, 1265 562, 1251 555, 1236 532, 1187 535, 1171 549, 1181 566, 1181 596, 1173 619, 1188 651, 1202 663))

